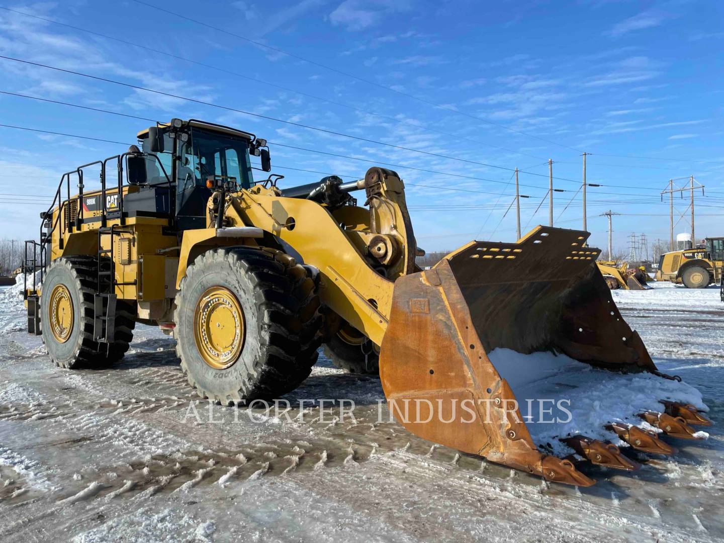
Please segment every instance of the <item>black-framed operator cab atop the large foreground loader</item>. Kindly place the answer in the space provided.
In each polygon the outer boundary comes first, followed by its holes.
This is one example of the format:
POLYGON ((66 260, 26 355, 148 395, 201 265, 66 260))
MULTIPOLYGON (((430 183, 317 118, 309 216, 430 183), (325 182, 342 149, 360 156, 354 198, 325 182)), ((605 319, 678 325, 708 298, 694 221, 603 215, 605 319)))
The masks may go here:
POLYGON ((169 175, 169 203, 179 230, 206 227, 206 203, 214 192, 210 187, 223 183, 227 190, 251 188, 250 153, 261 156, 269 171, 265 140, 211 122, 173 119, 139 132, 138 139, 146 155, 147 186, 166 182, 159 163, 169 175))

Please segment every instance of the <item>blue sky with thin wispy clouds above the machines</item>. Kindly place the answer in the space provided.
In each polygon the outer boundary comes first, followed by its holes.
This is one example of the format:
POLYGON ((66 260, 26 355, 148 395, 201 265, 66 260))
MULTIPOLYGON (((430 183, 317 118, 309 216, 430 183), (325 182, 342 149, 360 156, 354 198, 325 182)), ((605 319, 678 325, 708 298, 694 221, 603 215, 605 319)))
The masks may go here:
MULTIPOLYGON (((523 225, 546 223, 547 203, 534 211, 547 193, 549 158, 554 187, 565 190, 554 195, 555 224, 581 227, 582 151, 592 153, 588 181, 605 185, 588 189, 593 245, 605 246, 607 222, 599 214, 607 209, 622 214, 614 218, 615 246, 626 246, 632 231, 646 234, 649 246, 668 240, 668 203, 658 191, 690 174, 706 186, 696 198, 696 237, 724 235, 717 216, 724 208, 718 1, 147 1, 216 30, 135 1, 2 0, 16 12, 166 54, 5 9, 0 54, 454 159, 4 59, 0 90, 255 132, 277 143, 272 163, 287 186, 322 177, 289 168, 351 180, 372 164, 279 144, 397 164, 418 245, 428 250, 473 237, 514 240, 515 209, 504 214, 515 167, 523 170, 521 193, 531 196, 521 199, 523 225)), ((149 125, 3 94, 0 119, 128 143, 149 125)), ((62 172, 123 150, 0 127, 2 235, 30 237, 42 206, 27 202, 52 195, 62 172)), ((685 209, 686 201, 677 206, 685 209)), ((678 224, 676 232, 686 231, 688 223, 678 224)))

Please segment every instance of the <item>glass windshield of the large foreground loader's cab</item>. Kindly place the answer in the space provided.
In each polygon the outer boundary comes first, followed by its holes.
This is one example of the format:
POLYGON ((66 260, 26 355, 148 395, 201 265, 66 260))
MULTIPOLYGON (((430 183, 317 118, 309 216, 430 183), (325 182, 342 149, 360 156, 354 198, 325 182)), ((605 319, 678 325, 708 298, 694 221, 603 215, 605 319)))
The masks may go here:
POLYGON ((182 191, 206 187, 209 177, 232 182, 235 188, 250 188, 253 183, 245 138, 194 128, 179 154, 182 191))

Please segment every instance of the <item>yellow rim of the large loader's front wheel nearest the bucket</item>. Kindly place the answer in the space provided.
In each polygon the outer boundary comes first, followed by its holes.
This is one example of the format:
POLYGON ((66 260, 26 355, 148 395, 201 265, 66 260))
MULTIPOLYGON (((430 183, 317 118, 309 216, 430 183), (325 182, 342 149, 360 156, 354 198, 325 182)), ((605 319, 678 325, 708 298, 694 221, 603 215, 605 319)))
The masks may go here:
POLYGON ((244 345, 244 312, 229 289, 211 287, 201 295, 193 329, 196 348, 209 366, 226 369, 237 361, 244 345))

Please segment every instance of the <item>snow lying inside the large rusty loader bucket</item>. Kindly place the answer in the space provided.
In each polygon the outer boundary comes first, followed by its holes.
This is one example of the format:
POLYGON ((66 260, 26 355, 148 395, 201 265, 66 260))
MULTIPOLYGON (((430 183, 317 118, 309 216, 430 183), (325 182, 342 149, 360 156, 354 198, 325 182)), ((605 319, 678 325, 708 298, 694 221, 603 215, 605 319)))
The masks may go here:
POLYGON ((626 445, 605 426, 625 422, 649 427, 637 415, 662 411, 660 400, 691 403, 708 411, 694 387, 653 374, 618 374, 552 353, 523 355, 495 349, 489 358, 513 389, 533 441, 549 445, 559 456, 571 450, 558 438, 573 434, 626 445))

